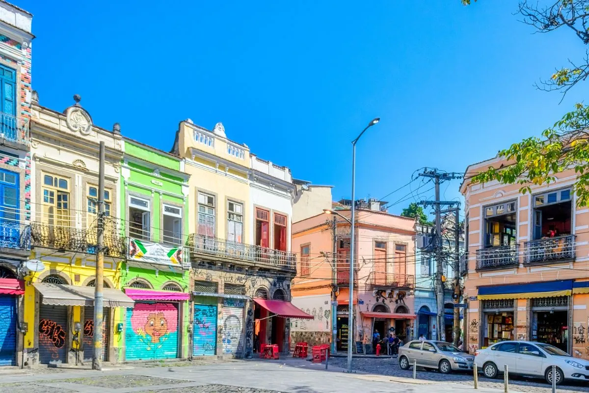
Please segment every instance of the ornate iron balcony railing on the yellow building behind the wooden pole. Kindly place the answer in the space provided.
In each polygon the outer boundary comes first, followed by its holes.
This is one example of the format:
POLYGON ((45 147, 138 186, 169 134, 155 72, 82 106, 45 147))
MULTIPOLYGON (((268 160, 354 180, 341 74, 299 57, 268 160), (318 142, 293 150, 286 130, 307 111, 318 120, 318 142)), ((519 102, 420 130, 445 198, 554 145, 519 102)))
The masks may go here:
MULTIPOLYGON (((96 227, 78 229, 35 222, 31 224, 31 245, 95 254, 96 227)), ((114 230, 105 230, 104 255, 118 258, 127 256, 125 237, 114 230)))

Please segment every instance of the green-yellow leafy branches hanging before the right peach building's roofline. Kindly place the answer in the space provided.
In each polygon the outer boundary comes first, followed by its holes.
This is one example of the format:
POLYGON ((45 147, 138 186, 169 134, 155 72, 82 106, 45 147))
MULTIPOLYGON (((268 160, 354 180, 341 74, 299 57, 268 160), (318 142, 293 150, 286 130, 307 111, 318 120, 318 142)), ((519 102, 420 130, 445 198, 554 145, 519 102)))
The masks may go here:
POLYGON ((499 151, 498 156, 507 159, 508 166, 489 167, 472 177, 473 183, 517 183, 525 194, 531 191, 530 184, 552 183, 556 173, 574 169, 577 206, 589 206, 589 106, 575 105, 574 111, 544 130, 542 137, 525 138, 499 151))

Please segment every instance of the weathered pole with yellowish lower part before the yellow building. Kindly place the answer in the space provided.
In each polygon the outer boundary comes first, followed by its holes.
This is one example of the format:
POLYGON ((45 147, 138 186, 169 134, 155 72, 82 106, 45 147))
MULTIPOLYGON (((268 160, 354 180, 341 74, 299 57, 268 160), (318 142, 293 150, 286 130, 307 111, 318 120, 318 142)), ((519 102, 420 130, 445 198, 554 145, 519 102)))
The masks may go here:
POLYGON ((94 280, 94 354, 92 369, 102 369, 102 287, 104 285, 104 141, 100 142, 98 169, 98 220, 96 230, 96 279, 94 280))

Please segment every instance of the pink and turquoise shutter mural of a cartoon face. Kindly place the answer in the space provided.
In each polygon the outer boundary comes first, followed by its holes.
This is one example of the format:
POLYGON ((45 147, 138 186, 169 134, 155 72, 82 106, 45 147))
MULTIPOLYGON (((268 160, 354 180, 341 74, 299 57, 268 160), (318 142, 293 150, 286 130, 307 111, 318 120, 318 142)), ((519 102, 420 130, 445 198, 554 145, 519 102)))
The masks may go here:
POLYGON ((135 303, 127 309, 125 358, 127 360, 178 357, 178 306, 176 303, 135 303))

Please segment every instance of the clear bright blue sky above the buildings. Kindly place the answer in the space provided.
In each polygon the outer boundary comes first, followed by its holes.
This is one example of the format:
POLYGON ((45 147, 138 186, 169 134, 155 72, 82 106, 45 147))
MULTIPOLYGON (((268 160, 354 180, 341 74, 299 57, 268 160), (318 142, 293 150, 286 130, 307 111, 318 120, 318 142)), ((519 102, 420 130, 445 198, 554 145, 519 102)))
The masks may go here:
MULTIPOLYGON (((535 89, 584 48, 569 32, 532 34, 515 0, 14 2, 34 14, 42 105, 61 111, 81 94, 95 124, 119 122, 163 150, 180 120, 221 121, 294 177, 335 186, 336 200, 350 196, 350 141, 373 117, 357 197, 385 196, 424 166, 464 171, 540 135, 587 88, 560 105, 535 89)), ((458 186, 442 187, 445 198, 458 186)))

